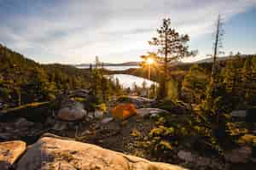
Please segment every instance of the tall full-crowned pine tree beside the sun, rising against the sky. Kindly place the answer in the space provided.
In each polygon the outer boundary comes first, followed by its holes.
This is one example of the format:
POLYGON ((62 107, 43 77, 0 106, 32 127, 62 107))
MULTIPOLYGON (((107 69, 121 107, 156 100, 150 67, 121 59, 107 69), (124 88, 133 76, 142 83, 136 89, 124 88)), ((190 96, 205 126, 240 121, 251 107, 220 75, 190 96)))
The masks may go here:
POLYGON ((168 80, 168 67, 177 59, 189 56, 188 35, 180 35, 171 27, 171 20, 164 19, 163 25, 157 30, 158 37, 153 37, 149 41, 150 45, 158 47, 158 54, 161 54, 160 62, 164 65, 164 75, 160 80, 160 98, 166 97, 166 81, 168 80))

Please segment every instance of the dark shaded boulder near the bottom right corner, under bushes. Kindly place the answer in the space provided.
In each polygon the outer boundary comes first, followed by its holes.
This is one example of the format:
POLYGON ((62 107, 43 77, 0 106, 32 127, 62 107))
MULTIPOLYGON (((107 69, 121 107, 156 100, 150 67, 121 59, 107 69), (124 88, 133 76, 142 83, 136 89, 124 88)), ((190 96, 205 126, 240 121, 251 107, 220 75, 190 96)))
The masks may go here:
POLYGON ((224 158, 231 163, 247 163, 252 156, 253 150, 250 147, 242 146, 235 150, 225 151, 224 158))

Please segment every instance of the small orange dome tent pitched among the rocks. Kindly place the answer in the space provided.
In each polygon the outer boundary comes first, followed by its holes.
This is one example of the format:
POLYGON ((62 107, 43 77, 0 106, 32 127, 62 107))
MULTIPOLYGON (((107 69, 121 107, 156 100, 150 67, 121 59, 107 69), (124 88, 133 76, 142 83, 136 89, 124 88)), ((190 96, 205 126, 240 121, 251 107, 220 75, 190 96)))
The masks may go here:
POLYGON ((112 115, 115 118, 124 120, 132 115, 136 115, 137 110, 133 104, 119 104, 112 110, 112 115))

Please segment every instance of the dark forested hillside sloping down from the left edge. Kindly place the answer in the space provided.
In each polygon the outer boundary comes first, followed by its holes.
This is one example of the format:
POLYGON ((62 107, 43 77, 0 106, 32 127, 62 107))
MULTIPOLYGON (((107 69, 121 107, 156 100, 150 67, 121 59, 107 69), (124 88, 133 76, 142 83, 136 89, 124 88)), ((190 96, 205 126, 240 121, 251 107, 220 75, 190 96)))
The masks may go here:
POLYGON ((89 86, 88 71, 68 65, 40 65, 0 44, 0 96, 8 106, 54 99, 89 86))

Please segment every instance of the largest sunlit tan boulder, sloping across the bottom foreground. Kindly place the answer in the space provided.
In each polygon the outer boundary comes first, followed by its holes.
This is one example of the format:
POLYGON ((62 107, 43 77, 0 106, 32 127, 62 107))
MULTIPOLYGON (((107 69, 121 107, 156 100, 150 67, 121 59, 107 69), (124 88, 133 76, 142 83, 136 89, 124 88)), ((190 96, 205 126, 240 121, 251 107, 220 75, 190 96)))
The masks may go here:
POLYGON ((94 144, 44 137, 26 151, 17 170, 34 169, 122 169, 122 170, 182 170, 183 167, 148 161, 94 144))

